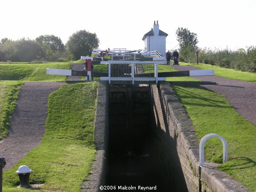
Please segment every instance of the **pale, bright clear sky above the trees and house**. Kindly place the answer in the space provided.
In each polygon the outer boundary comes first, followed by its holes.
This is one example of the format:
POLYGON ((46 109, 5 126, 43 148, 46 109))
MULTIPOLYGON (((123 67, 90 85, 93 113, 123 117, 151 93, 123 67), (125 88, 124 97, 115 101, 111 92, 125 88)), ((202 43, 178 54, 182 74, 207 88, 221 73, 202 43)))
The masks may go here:
POLYGON ((256 0, 0 0, 0 39, 55 35, 66 44, 79 30, 96 33, 99 49, 144 49, 154 20, 179 48, 178 27, 198 35, 198 46, 237 50, 256 46, 256 0))

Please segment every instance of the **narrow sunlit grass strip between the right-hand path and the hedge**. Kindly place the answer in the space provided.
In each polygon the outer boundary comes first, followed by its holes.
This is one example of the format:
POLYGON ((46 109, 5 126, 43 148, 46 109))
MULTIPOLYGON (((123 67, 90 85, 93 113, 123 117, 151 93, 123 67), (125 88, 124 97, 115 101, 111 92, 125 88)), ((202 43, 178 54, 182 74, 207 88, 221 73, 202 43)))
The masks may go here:
POLYGON ((220 76, 228 79, 237 79, 241 81, 251 81, 256 83, 256 73, 243 72, 243 71, 234 70, 234 69, 226 69, 226 68, 211 66, 203 63, 199 63, 197 65, 194 63, 190 64, 190 63, 180 62, 180 65, 193 66, 199 69, 213 69, 214 74, 216 76, 220 76))

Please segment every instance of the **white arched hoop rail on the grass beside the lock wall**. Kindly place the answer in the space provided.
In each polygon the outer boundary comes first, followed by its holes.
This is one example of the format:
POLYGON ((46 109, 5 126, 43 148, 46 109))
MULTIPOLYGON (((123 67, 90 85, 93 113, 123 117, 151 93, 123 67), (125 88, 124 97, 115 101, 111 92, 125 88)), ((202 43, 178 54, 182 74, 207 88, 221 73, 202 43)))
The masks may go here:
POLYGON ((211 137, 218 137, 218 138, 221 139, 222 147, 223 147, 223 150, 222 150, 222 153, 223 153, 223 163, 228 161, 228 145, 227 145, 227 141, 222 136, 220 136, 220 135, 217 135, 215 133, 210 133, 210 134, 205 135, 200 140, 200 143, 199 143, 199 165, 201 167, 204 166, 204 145, 205 145, 206 141, 208 139, 210 139, 211 137))

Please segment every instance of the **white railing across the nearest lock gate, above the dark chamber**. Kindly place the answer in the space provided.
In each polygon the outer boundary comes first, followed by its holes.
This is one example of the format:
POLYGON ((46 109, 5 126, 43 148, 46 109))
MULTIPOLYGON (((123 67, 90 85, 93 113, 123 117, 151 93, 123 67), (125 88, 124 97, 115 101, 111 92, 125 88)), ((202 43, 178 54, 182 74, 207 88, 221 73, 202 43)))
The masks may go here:
POLYGON ((165 80, 165 77, 158 77, 158 61, 128 61, 109 60, 100 63, 109 65, 108 77, 100 77, 100 80, 111 81, 156 81, 165 80))

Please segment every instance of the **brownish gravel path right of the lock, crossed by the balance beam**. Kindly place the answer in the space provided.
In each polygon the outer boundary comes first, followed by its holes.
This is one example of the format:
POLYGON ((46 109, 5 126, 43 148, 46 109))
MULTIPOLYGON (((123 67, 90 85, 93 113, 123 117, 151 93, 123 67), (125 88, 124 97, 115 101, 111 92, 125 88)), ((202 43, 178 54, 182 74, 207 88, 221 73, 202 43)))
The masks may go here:
MULTIPOLYGON (((172 67, 178 71, 198 70, 192 66, 172 67)), ((226 97, 242 117, 256 125, 256 83, 226 79, 218 76, 195 76, 195 78, 216 82, 216 85, 205 85, 203 87, 226 97)))

